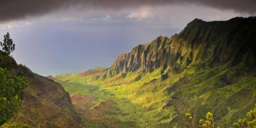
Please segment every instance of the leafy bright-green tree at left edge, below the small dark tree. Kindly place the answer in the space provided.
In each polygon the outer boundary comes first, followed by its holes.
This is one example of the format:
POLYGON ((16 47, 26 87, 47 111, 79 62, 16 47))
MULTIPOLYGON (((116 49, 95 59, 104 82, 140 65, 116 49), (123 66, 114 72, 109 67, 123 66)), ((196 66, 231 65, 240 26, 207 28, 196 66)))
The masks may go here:
POLYGON ((17 113, 27 86, 25 77, 9 75, 6 68, 0 67, 0 125, 17 113))

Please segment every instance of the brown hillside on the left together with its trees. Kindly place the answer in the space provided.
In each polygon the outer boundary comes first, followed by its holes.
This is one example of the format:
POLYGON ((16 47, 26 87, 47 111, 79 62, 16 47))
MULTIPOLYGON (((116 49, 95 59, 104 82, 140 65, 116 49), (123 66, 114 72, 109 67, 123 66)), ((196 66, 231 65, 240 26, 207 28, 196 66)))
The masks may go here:
POLYGON ((83 128, 81 116, 64 88, 26 66, 17 65, 10 56, 15 45, 9 33, 1 45, 6 50, 0 50, 1 128, 83 128))

